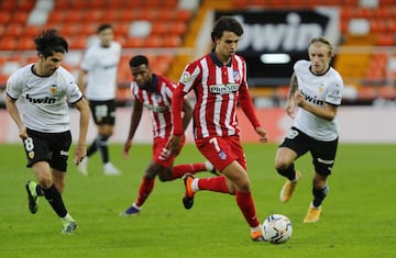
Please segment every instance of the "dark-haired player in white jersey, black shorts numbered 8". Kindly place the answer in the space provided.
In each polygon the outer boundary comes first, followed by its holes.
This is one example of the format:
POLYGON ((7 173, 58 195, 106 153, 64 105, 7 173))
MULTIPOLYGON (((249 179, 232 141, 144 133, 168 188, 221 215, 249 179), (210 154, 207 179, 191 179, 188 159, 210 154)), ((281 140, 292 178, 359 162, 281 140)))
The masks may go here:
POLYGON ((29 210, 37 212, 37 198, 44 195, 63 221, 63 234, 77 227, 62 199, 66 183, 68 150, 72 144, 68 103, 79 113, 79 137, 74 161, 86 155, 89 106, 70 72, 61 66, 67 42, 55 30, 35 37, 38 59, 11 75, 7 81, 7 110, 19 128, 26 153, 28 167, 38 183, 28 181, 29 210), (20 99, 22 105, 16 104, 20 99), (23 120, 20 111, 23 112, 23 120))

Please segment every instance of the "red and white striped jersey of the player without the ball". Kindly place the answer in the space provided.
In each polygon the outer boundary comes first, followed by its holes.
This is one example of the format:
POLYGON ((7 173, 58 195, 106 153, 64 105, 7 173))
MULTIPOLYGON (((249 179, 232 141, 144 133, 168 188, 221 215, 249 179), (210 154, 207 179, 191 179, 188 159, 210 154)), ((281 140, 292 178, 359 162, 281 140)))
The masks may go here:
POLYGON ((142 90, 135 81, 131 82, 131 91, 135 101, 141 101, 150 111, 153 124, 153 136, 166 138, 172 134, 172 97, 176 85, 167 78, 154 75, 150 90, 142 90))

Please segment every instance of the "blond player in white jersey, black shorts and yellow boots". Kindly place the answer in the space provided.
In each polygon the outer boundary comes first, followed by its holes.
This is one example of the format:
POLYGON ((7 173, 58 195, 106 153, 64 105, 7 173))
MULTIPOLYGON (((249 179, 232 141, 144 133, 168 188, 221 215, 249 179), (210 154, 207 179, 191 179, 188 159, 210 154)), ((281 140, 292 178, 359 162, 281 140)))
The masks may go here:
POLYGON ((304 223, 314 223, 319 221, 321 204, 329 193, 327 178, 334 165, 338 148, 336 115, 341 104, 343 81, 330 66, 334 51, 329 40, 312 38, 308 55, 309 61, 298 60, 294 66, 286 111, 295 121, 276 153, 275 168, 287 178, 280 191, 280 201, 287 202, 301 178, 294 162, 306 153, 311 154, 315 168, 314 200, 304 223), (296 106, 298 110, 294 115, 296 106))

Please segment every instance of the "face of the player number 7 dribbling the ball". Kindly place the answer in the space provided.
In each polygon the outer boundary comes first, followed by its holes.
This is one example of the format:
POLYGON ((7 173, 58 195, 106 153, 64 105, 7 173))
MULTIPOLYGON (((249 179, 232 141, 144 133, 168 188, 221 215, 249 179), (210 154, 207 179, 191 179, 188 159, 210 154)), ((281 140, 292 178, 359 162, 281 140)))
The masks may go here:
POLYGON ((240 37, 229 31, 224 31, 222 36, 216 40, 216 55, 220 61, 228 64, 237 52, 240 37))

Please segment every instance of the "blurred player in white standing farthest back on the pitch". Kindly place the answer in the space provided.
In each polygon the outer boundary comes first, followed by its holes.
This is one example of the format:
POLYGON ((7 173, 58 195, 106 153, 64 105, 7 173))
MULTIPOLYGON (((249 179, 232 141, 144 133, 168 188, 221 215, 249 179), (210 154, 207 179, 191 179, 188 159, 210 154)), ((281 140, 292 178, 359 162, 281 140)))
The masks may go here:
POLYGON ((105 175, 120 175, 109 158, 107 141, 113 134, 116 123, 117 71, 121 58, 121 45, 113 41, 113 27, 101 24, 98 27, 99 43, 85 54, 78 72, 78 86, 89 101, 98 135, 88 147, 87 157, 78 170, 88 175, 88 158, 98 149, 101 154, 105 175))

